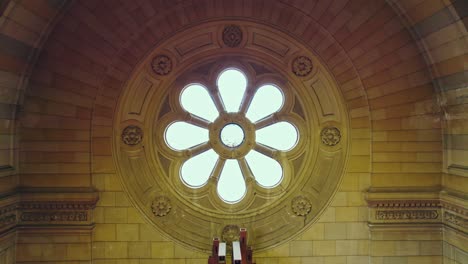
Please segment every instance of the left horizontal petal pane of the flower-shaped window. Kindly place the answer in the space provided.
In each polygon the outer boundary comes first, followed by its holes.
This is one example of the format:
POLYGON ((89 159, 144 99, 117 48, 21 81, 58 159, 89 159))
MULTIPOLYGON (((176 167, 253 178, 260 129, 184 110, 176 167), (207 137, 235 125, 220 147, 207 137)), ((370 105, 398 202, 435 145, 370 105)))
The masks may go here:
POLYGON ((208 129, 186 122, 174 122, 166 129, 166 142, 175 150, 184 150, 208 141, 208 129))

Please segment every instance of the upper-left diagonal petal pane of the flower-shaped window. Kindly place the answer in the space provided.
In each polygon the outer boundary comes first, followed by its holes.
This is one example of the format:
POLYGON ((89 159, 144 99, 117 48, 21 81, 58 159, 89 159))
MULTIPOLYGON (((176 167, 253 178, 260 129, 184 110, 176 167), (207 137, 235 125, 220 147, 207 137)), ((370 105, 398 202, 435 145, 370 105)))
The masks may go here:
POLYGON ((219 115, 210 94, 199 84, 187 86, 180 95, 180 104, 189 113, 213 122, 219 115))

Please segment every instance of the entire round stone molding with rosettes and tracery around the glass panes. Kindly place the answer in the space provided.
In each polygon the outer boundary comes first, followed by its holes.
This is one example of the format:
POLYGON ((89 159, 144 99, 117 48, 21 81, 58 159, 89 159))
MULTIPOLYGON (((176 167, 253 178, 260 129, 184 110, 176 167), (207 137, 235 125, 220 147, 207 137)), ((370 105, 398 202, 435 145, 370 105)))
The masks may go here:
MULTIPOLYGON (((273 248, 309 228, 337 191, 349 155, 348 139, 343 136, 349 134, 349 114, 335 79, 319 57, 288 34, 250 21, 205 22, 160 42, 126 81, 114 118, 115 131, 125 128, 113 141, 115 168, 132 204, 173 241, 209 252, 214 237, 227 239, 246 228, 256 252, 273 248), (177 67, 172 64, 175 58, 177 67), (226 69, 237 69, 247 80, 242 99, 246 103, 237 112, 223 110, 217 90, 218 77, 226 69), (192 85, 205 88, 200 91, 215 104, 218 115, 211 121, 183 108, 181 95, 192 85), (267 85, 278 88, 282 105, 251 122, 246 113, 257 91, 267 85), (139 126, 128 126, 132 122, 139 126), (172 148, 166 132, 177 122, 204 129, 203 140, 172 148), (280 122, 296 129, 294 147, 278 150, 259 143, 259 131, 280 122), (220 138, 231 123, 243 131, 236 147, 220 138), (330 124, 340 131, 328 129, 330 124), (324 127, 327 130, 321 131, 324 127), (329 144, 336 145, 330 148, 329 144), (258 171, 265 175, 268 171, 249 167, 247 159, 253 150, 279 164, 278 184, 260 184, 258 171), (204 167, 209 170, 207 180, 190 185, 182 177, 183 166, 205 153, 216 155, 214 168, 204 167), (232 203, 220 198, 217 189, 227 160, 237 161, 245 182, 242 198, 232 203)), ((181 135, 182 139, 189 136, 181 135)))

